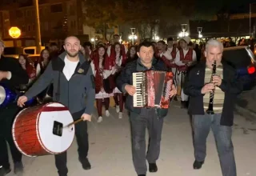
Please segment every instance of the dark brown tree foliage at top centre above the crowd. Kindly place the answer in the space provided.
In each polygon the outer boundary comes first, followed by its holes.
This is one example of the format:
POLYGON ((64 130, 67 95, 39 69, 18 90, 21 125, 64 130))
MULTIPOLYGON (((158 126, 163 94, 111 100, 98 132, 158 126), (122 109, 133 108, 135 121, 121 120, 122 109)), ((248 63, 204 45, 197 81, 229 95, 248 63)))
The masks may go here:
POLYGON ((113 25, 130 23, 145 36, 152 38, 156 26, 162 24, 162 29, 170 24, 180 24, 194 11, 195 0, 184 0, 177 3, 174 0, 87 0, 86 25, 103 29, 113 25), (190 8, 188 8, 190 6, 190 8), (166 26, 165 26, 166 24, 166 26))

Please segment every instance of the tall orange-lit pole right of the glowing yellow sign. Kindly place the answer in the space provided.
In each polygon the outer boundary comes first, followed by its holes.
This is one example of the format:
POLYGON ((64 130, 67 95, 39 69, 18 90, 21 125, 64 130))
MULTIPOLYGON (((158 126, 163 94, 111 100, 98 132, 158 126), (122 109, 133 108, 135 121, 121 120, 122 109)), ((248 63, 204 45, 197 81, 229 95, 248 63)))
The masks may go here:
POLYGON ((37 54, 41 53, 41 46, 42 46, 42 42, 41 42, 41 32, 40 32, 40 19, 39 19, 39 8, 38 8, 38 0, 34 0, 34 8, 35 8, 35 16, 36 16, 36 20, 35 20, 35 29, 36 29, 36 37, 35 37, 35 41, 36 41, 36 46, 37 46, 37 54))

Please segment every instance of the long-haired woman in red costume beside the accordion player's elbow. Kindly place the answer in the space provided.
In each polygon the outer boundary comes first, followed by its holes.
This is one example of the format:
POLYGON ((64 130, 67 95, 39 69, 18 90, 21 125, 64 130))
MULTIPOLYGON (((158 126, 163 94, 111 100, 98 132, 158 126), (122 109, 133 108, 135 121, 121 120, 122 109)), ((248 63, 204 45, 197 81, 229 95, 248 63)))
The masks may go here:
POLYGON ((114 51, 111 51, 110 60, 112 61, 112 66, 114 67, 114 72, 111 75, 112 86, 114 87, 114 102, 116 106, 116 112, 118 113, 118 118, 122 118, 122 110, 123 110, 123 93, 121 90, 118 89, 116 85, 116 79, 118 78, 118 75, 121 73, 122 68, 126 64, 126 51, 124 47, 116 42, 114 43, 114 48, 111 49, 114 51))

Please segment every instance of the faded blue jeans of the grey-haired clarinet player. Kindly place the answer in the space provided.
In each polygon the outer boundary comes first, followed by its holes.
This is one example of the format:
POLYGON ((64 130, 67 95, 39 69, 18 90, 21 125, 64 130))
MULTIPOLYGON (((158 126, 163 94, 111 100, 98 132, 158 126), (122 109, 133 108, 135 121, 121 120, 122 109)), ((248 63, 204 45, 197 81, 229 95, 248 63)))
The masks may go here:
POLYGON ((198 162, 206 158, 206 138, 213 130, 223 176, 236 176, 234 147, 231 140, 232 127, 221 126, 222 114, 193 115, 194 157, 198 162))

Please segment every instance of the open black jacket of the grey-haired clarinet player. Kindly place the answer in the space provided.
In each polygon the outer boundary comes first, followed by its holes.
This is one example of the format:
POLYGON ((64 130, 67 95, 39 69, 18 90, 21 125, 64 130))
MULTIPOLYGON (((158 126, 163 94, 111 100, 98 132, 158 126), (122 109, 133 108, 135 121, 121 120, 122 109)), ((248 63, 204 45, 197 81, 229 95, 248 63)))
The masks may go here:
MULTIPOLYGON (((242 82, 233 67, 222 62, 223 79, 219 88, 225 93, 221 125, 233 126, 234 106, 238 94, 242 92, 242 82)), ((205 114, 202 87, 205 84, 206 62, 200 62, 189 71, 184 85, 184 93, 190 96, 189 114, 205 114)))

